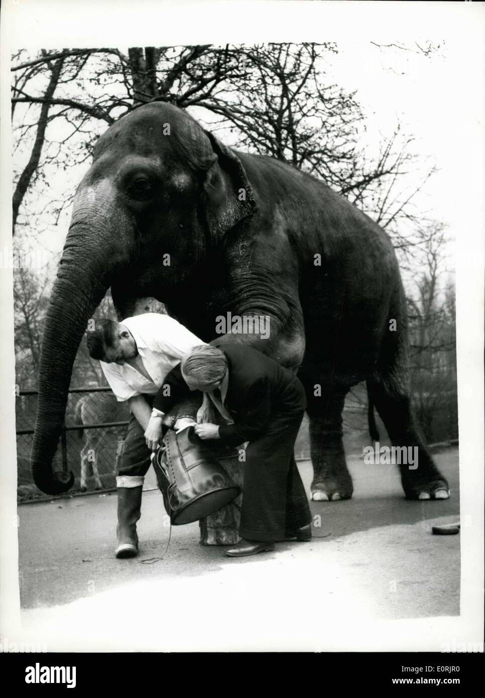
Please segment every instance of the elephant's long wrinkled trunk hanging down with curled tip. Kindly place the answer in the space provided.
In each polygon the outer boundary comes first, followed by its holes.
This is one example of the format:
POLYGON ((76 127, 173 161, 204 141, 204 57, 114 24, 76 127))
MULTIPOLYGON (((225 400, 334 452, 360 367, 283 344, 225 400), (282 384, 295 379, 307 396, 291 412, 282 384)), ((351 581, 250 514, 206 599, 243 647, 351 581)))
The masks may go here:
POLYGON ((52 472, 73 363, 88 320, 128 254, 126 247, 120 253, 120 246, 108 242, 106 236, 110 228, 112 239, 121 242, 126 226, 115 235, 113 221, 107 231, 101 227, 107 222, 102 218, 96 225, 100 235, 73 219, 45 318, 31 468, 37 487, 48 494, 65 492, 73 485, 73 473, 52 472))

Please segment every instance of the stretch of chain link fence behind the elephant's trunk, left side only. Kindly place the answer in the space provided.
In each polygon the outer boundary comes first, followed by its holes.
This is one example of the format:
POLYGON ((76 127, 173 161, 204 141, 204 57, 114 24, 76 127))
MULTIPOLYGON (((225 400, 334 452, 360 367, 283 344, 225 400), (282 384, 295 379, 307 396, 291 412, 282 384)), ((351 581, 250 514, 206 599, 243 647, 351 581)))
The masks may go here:
MULTIPOLYGON (((52 498, 34 484, 30 454, 34 438, 37 391, 20 391, 15 405, 17 433, 17 498, 52 498)), ((72 470, 71 493, 115 487, 129 408, 118 402, 109 387, 73 388, 68 394, 66 417, 53 461, 54 470, 72 470)))

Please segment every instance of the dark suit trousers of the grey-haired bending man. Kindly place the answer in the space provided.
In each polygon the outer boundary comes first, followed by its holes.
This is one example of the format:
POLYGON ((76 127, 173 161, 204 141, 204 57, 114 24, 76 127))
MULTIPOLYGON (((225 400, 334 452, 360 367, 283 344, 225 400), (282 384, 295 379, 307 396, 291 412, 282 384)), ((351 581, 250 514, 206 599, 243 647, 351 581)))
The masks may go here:
POLYGON ((275 414, 266 433, 247 446, 239 526, 247 540, 284 540, 289 531, 312 521, 294 456, 305 413, 303 386, 296 381, 293 407, 275 414))

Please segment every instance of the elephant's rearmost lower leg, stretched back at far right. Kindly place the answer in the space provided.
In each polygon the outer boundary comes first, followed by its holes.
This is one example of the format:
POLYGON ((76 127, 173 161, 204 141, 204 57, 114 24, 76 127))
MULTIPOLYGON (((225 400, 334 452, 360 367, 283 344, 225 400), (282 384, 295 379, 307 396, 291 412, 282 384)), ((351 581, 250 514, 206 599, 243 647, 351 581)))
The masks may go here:
MULTIPOLYGON (((447 499, 449 484, 435 466, 424 441, 414 424, 410 397, 401 381, 391 378, 372 378, 368 381, 369 395, 377 408, 393 446, 400 447, 399 461, 404 454, 406 463, 400 462, 403 489, 408 499, 447 499), (405 449, 403 449, 405 447, 405 449), (411 449, 411 450, 410 450, 411 449)), ((397 451, 396 451, 397 453, 397 451)))

